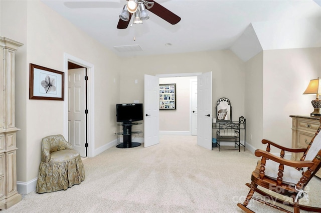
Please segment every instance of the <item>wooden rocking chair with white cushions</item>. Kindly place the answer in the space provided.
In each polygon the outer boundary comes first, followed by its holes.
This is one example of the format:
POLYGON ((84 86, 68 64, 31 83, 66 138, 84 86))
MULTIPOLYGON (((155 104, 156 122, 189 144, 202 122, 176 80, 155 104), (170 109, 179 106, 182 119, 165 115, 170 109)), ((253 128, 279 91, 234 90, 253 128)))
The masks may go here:
POLYGON ((263 139, 262 143, 267 144, 266 151, 260 149, 255 151, 255 155, 262 158, 261 161, 258 161, 256 169, 252 172, 251 184, 246 183, 246 185, 251 189, 247 194, 245 201, 243 204, 238 203, 237 205, 245 212, 254 212, 247 207, 250 199, 252 198, 281 211, 291 212, 275 205, 274 203, 269 203, 257 197, 252 197, 254 192, 258 192, 259 194, 270 198, 270 200, 275 200, 276 202, 293 207, 294 213, 299 213, 300 209, 321 212, 321 207, 299 204, 299 199, 306 193, 304 191, 305 186, 321 166, 321 133, 318 134, 320 129, 321 125, 318 127, 314 137, 306 148, 286 148, 269 140, 263 139), (280 157, 270 153, 270 145, 281 149, 280 157), (284 151, 304 153, 299 161, 295 161, 284 159, 284 151), (275 197, 261 190, 257 186, 288 196, 292 198, 293 201, 286 201, 279 197, 275 197))

